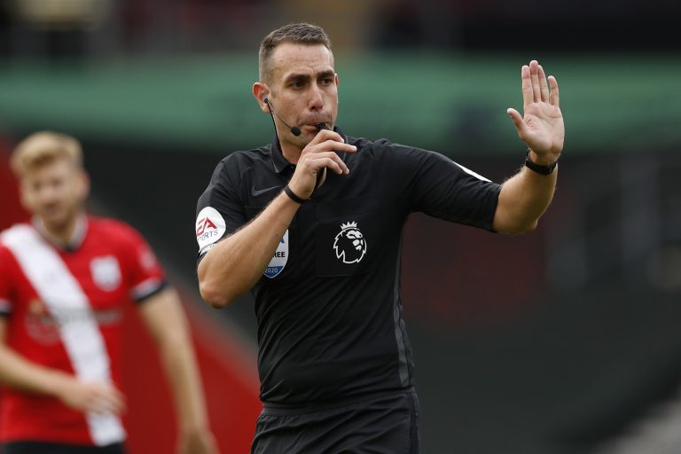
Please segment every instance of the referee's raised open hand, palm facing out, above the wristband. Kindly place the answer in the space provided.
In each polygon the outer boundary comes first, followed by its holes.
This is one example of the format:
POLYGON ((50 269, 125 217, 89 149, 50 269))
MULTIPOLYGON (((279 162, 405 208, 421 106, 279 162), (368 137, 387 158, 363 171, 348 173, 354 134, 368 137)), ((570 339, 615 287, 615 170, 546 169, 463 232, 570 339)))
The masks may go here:
POLYGON ((560 157, 565 124, 560 113, 558 82, 536 60, 521 68, 523 115, 509 108, 518 136, 536 153, 537 164, 550 164, 560 157))

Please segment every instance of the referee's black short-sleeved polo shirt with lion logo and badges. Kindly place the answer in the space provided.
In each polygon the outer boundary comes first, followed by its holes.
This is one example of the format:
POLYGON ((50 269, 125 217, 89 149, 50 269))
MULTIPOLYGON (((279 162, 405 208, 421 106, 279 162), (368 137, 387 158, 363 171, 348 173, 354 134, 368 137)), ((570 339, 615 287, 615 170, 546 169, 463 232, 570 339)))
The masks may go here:
MULTIPOLYGON (((349 175, 327 172, 252 289, 261 399, 297 406, 411 387, 400 256, 411 212, 491 230, 500 186, 438 153, 345 137, 349 175)), ((294 165, 278 142, 215 168, 197 207, 200 257, 258 215, 294 165)))

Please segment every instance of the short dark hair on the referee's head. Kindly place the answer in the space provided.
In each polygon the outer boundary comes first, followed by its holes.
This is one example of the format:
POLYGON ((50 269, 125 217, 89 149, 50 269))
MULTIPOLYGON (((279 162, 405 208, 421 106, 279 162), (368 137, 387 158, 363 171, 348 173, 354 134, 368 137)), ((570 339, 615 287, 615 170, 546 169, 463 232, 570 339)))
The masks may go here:
POLYGON ((270 68, 268 67, 270 57, 281 43, 294 44, 324 44, 326 49, 331 51, 331 40, 326 35, 324 28, 316 25, 297 23, 288 24, 272 30, 265 36, 260 43, 258 51, 258 70, 260 80, 269 83, 270 68))

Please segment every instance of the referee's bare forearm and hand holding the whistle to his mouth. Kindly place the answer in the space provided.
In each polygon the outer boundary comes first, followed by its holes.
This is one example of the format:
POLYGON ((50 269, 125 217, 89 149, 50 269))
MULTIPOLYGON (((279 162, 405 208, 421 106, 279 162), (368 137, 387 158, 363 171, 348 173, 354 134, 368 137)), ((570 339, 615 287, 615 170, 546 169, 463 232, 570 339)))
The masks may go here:
MULTIPOLYGON (((323 168, 339 175, 348 173, 348 167, 334 150, 353 153, 356 147, 343 143, 340 135, 330 130, 320 131, 310 141, 288 184, 294 194, 309 199, 317 172, 323 168)), ((281 192, 260 215, 210 249, 197 270, 203 299, 221 308, 250 290, 261 278, 299 207, 299 203, 281 192)))

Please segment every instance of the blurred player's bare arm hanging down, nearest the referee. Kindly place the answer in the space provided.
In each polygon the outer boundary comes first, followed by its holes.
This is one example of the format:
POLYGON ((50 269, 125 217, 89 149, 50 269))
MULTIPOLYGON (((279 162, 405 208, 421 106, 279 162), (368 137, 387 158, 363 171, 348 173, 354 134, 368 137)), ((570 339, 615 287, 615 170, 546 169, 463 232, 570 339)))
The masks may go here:
POLYGON ((208 427, 206 402, 182 304, 170 287, 148 297, 139 312, 152 334, 176 404, 180 454, 218 452, 208 427))

